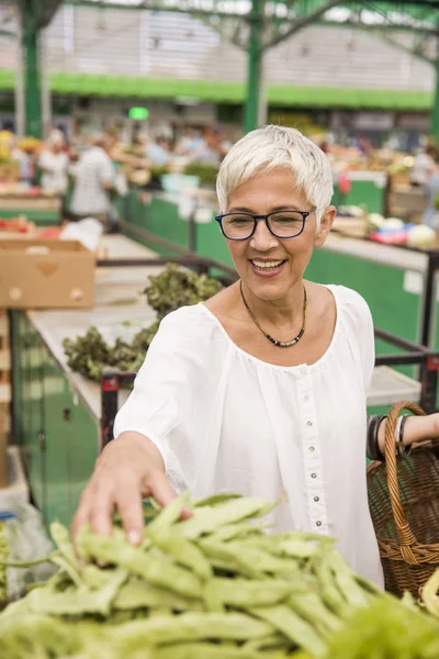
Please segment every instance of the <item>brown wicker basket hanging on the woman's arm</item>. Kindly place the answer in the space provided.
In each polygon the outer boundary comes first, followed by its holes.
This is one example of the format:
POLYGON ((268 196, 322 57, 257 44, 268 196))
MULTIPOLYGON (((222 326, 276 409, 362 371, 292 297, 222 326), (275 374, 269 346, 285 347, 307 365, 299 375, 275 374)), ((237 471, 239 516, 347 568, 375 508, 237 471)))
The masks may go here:
POLYGON ((439 443, 423 442, 409 457, 395 455, 398 414, 425 412, 409 402, 393 405, 385 428, 385 462, 368 469, 369 506, 379 541, 385 588, 415 597, 439 568, 439 443))

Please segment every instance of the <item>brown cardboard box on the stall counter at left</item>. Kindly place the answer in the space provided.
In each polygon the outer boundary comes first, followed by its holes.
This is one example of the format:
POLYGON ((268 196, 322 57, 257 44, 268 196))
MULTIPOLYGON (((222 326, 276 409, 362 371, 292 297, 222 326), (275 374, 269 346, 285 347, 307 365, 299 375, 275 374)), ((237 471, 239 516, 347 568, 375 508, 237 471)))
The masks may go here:
POLYGON ((78 241, 1 239, 0 308, 88 309, 94 256, 78 241))

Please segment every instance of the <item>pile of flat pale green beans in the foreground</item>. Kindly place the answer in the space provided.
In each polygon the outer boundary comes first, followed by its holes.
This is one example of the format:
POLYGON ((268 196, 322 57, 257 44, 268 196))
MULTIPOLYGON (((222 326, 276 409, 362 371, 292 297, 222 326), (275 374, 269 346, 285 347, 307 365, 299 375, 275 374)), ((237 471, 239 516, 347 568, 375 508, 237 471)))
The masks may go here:
POLYGON ((115 518, 76 554, 53 524, 59 569, 0 615, 1 659, 326 659, 353 611, 390 600, 330 538, 266 533, 264 500, 216 495, 181 521, 188 505, 145 509, 138 547, 115 518))

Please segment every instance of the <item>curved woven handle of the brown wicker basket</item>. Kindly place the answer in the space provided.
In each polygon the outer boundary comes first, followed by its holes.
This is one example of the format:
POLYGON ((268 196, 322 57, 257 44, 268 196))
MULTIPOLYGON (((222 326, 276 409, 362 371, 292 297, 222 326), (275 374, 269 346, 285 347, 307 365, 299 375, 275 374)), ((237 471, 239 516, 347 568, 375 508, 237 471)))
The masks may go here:
POLYGON ((408 410, 418 416, 425 416, 426 413, 421 407, 409 401, 395 403, 387 415, 385 424, 385 466, 387 471, 387 488, 392 504, 393 516, 396 524, 397 536, 401 545, 401 551, 408 562, 417 562, 409 548, 410 545, 417 543, 404 514, 403 504, 401 502, 399 484, 397 478, 397 462, 395 451, 395 432, 396 423, 402 410, 408 410), (405 556, 407 554, 407 556, 405 556))

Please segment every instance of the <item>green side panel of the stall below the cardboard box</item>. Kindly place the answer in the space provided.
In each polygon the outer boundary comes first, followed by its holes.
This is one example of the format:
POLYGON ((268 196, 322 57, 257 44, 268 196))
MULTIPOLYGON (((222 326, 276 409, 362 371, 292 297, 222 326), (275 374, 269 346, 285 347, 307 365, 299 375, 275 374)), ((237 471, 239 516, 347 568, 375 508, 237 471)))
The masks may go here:
POLYGON ((70 524, 98 457, 98 424, 24 312, 14 312, 13 325, 15 423, 32 495, 46 524, 70 524))

